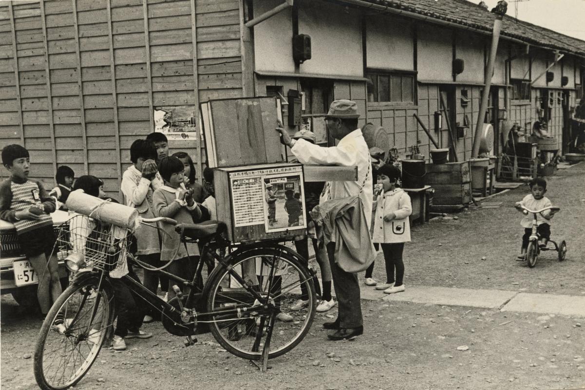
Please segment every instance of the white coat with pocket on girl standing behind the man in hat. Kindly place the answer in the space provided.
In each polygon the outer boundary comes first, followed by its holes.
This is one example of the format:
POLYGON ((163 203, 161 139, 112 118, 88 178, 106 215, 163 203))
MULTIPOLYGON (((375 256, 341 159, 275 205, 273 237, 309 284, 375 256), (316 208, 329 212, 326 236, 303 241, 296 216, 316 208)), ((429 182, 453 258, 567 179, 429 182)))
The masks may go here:
POLYGON ((412 214, 410 197, 401 188, 382 192, 376 199, 374 215, 374 234, 372 242, 394 244, 410 242, 410 223, 408 215, 412 214), (396 218, 384 221, 384 215, 394 213, 396 218))

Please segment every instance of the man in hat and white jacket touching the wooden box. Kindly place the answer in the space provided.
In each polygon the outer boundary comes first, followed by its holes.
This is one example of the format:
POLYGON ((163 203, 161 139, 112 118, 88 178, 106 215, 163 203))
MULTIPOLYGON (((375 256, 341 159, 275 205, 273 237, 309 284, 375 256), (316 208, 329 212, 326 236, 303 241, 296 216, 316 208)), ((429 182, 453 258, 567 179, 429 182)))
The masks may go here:
MULTIPOLYGON (((358 196, 362 200, 367 225, 371 221, 372 208, 372 173, 370 169, 370 153, 362 135, 362 130, 357 127, 356 102, 350 100, 335 100, 329 107, 325 116, 325 123, 329 134, 339 139, 337 146, 322 148, 313 145, 304 139, 291 139, 287 131, 279 124, 281 141, 291 148, 291 152, 303 164, 312 165, 357 165, 357 180, 355 182, 328 182, 326 183, 325 196, 321 201, 339 199, 348 196, 358 196)), ((363 334, 362 306, 360 303, 360 288, 356 273, 343 271, 335 261, 335 242, 327 245, 327 254, 331 272, 333 274, 333 287, 338 299, 338 318, 333 322, 323 324, 325 329, 335 330, 328 334, 331 340, 343 340, 355 338, 363 334)))

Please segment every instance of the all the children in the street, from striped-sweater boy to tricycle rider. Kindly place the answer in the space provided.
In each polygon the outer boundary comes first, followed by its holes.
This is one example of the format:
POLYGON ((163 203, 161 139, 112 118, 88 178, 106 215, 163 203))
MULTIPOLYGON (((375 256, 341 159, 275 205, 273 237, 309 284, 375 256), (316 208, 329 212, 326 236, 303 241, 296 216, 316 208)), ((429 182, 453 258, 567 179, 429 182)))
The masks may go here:
MULTIPOLYGON (((134 207, 144 218, 169 217, 179 223, 193 223, 206 219, 215 219, 215 194, 213 173, 205 169, 203 174, 204 185, 195 180, 195 167, 190 156, 185 152, 177 152, 168 156, 168 141, 161 133, 152 133, 146 139, 137 139, 130 146, 130 161, 132 165, 122 176, 121 190, 126 206, 134 207)), ((50 213, 57 208, 66 208, 67 197, 70 192, 82 189, 93 196, 106 199, 103 191, 104 183, 95 176, 81 176, 75 180, 75 174, 70 167, 60 166, 56 172, 57 186, 47 193, 42 184, 36 180, 29 180, 30 156, 29 152, 20 145, 8 145, 2 149, 2 164, 9 170, 11 177, 0 184, 0 218, 15 224, 20 247, 39 275, 37 297, 40 311, 45 316, 51 304, 61 294, 61 285, 58 273, 56 254, 53 253, 56 237, 53 231, 53 221, 50 213)), ((364 282, 368 286, 384 293, 397 293, 405 290, 404 261, 402 253, 404 243, 411 241, 409 215, 412 214, 411 200, 408 194, 397 187, 401 172, 394 165, 374 167, 377 184, 374 188, 374 215, 372 240, 374 245, 380 245, 386 265, 386 282, 376 282, 372 278, 373 264, 366 271, 364 282)), ((305 201, 307 210, 315 206, 319 199, 319 190, 307 189, 305 183, 305 201), (311 203, 312 202, 312 203, 311 203), (314 204, 315 203, 315 204, 314 204)), ((550 200, 544 196, 546 181, 538 178, 529 183, 531 194, 516 203, 532 209, 550 206, 550 200)), ((269 204, 269 218, 271 223, 276 222, 276 194, 266 184, 266 201, 269 204)), ((322 188, 322 187, 320 187, 322 188)), ((288 225, 299 223, 303 217, 300 194, 292 190, 285 191, 285 210, 288 213, 288 225)), ((109 199, 115 201, 113 199, 109 199)), ((550 218, 554 213, 546 211, 538 216, 538 234, 543 245, 550 238, 550 218)), ((331 270, 328 270, 326 255, 316 244, 315 226, 307 215, 309 237, 312 238, 319 266, 322 272, 322 301, 317 311, 324 312, 335 306, 331 297, 331 270)), ((522 220, 525 234, 522 238, 522 254, 524 253, 531 234, 532 219, 525 217, 522 220)), ((189 279, 192 276, 192 267, 187 261, 187 251, 179 242, 173 227, 162 224, 158 229, 140 225, 134 232, 136 237, 136 255, 139 259, 159 268, 161 264, 171 262, 167 271, 181 278, 189 279)), ((295 239, 298 252, 308 258, 307 235, 295 239)), ((197 256, 197 246, 190 248, 189 255, 197 256)), ((137 279, 137 277, 134 275, 137 279)), ((157 292, 159 283, 161 290, 166 291, 168 298, 173 296, 173 289, 166 278, 156 272, 144 269, 144 286, 157 292)), ((120 307, 126 307, 119 312, 122 321, 118 321, 120 331, 115 331, 113 347, 118 350, 126 348, 124 338, 151 337, 151 334, 140 331, 144 322, 153 320, 151 314, 140 305, 140 299, 131 299, 129 289, 119 285, 116 294, 121 299, 120 307), (126 305, 125 305, 126 303, 126 305), (124 311, 126 310, 126 311, 124 311)), ((300 310, 308 300, 299 300, 291 310, 300 310)), ((63 319, 57 318, 54 326, 58 330, 64 327, 63 319)))

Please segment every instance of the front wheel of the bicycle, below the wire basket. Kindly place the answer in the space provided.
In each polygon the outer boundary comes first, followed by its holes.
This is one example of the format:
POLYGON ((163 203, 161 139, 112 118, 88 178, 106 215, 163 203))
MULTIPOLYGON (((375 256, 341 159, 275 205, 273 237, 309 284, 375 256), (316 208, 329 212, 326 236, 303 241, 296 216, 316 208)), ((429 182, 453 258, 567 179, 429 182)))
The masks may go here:
POLYGON ((113 292, 98 277, 74 282, 56 300, 35 347, 35 379, 44 390, 77 384, 98 357, 113 321, 113 292), (61 326, 55 325, 56 322, 61 326))

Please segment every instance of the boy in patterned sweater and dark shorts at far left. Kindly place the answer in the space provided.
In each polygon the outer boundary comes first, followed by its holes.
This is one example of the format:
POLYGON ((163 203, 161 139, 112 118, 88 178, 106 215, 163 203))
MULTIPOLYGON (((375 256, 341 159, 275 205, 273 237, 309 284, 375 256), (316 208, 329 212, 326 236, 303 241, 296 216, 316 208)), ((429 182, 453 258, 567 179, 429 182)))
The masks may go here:
MULTIPOLYGON (((55 201, 41 183, 29 180, 28 150, 20 145, 5 146, 2 164, 11 176, 0 184, 0 218, 15 225, 20 247, 39 276, 37 298, 44 316, 61 295, 57 253, 51 256, 56 238, 49 214, 55 211, 55 201)), ((63 319, 57 319, 54 326, 59 331, 65 329, 63 319)))

